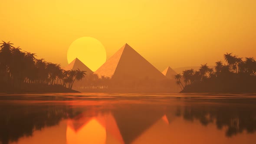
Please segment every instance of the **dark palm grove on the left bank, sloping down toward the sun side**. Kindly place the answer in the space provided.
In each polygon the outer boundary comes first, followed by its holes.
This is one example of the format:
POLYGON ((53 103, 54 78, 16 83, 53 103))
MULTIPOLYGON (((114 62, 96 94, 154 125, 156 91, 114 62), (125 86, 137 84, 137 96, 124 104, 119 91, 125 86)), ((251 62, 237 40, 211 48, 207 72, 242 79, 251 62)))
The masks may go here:
POLYGON ((26 84, 62 85, 72 89, 74 82, 84 77, 85 71, 65 71, 59 64, 36 59, 35 53, 22 51, 13 43, 0 43, 0 82, 12 90, 20 90, 26 84))

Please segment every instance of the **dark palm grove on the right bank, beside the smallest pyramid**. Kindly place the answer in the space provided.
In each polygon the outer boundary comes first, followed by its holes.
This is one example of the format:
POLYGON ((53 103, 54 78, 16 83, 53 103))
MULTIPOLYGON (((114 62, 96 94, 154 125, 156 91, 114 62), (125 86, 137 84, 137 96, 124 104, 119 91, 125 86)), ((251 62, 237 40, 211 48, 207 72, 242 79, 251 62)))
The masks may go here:
POLYGON ((214 68, 207 63, 175 75, 181 92, 256 92, 256 61, 244 60, 232 53, 224 54, 223 61, 215 62, 214 68))

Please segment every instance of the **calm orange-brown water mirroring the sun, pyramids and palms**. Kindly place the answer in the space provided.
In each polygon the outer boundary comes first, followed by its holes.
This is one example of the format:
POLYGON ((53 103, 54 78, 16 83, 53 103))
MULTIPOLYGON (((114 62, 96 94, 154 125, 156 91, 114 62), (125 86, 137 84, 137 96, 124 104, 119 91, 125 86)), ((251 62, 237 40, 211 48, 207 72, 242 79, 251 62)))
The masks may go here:
POLYGON ((256 94, 0 95, 0 144, 255 144, 256 94))

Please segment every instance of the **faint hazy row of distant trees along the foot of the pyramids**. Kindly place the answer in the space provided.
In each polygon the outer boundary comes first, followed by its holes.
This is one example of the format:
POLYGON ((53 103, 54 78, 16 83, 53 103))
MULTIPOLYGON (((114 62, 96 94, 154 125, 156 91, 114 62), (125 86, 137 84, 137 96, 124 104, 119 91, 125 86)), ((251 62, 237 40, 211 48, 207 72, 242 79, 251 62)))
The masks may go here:
POLYGON ((98 76, 95 73, 86 75, 75 82, 73 89, 79 92, 179 92, 173 79, 157 81, 153 78, 115 80, 110 77, 98 76))

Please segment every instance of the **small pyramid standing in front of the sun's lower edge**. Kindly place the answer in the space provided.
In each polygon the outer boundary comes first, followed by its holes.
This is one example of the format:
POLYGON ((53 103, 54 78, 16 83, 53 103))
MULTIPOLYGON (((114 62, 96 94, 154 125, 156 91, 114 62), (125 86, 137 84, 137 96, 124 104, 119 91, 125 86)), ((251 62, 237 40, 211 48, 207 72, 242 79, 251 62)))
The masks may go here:
POLYGON ((93 73, 91 69, 89 69, 84 63, 82 63, 79 59, 75 58, 72 62, 67 65, 64 70, 77 70, 86 71, 85 73, 88 75, 93 73))

